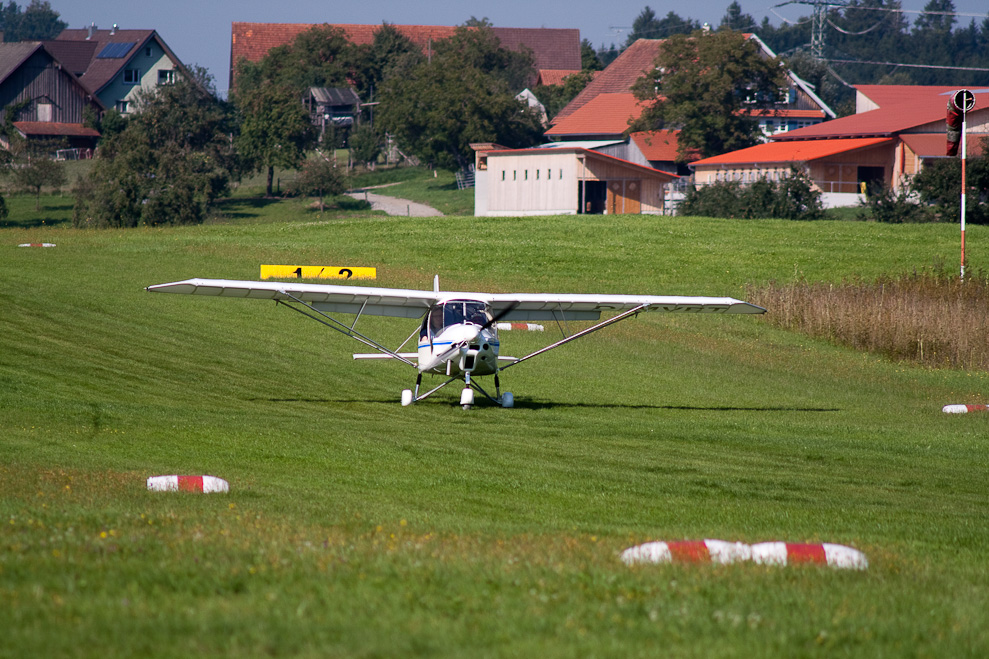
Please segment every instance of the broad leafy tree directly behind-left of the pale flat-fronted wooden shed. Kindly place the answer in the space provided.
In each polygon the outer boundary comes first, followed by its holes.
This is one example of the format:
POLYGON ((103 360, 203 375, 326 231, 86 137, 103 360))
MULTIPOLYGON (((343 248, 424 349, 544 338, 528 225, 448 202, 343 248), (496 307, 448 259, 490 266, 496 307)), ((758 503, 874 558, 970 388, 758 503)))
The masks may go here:
POLYGON ((383 83, 376 121, 422 161, 462 169, 474 161, 471 142, 529 146, 539 138, 539 118, 513 87, 531 75, 531 58, 502 49, 490 28, 460 27, 409 75, 383 83))

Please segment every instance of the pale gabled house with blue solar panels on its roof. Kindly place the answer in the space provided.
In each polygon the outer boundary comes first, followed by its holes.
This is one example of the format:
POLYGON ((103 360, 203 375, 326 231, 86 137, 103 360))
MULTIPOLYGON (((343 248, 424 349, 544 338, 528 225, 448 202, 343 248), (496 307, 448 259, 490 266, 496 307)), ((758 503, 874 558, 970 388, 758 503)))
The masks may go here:
POLYGON ((185 66, 154 30, 100 30, 96 26, 63 30, 45 46, 107 108, 127 115, 136 108, 137 93, 188 75, 185 66))

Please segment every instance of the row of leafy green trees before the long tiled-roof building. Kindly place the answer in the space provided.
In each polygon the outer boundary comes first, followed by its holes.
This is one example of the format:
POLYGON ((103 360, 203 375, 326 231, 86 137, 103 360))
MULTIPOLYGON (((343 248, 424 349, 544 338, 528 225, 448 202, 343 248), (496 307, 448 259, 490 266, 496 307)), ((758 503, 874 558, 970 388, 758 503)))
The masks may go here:
POLYGON ((240 62, 227 102, 202 69, 143 94, 133 118, 110 111, 102 119, 100 157, 75 190, 75 224, 202 222, 243 174, 267 172, 270 195, 275 167, 301 168, 302 192, 339 193, 340 169, 307 158, 320 146, 302 103, 309 87, 359 81, 380 99, 374 124, 350 135, 362 160, 377 158, 385 131, 421 161, 449 169, 473 162, 471 142, 532 144, 543 127, 513 91, 534 77, 531 54, 501 48, 484 21, 467 27, 426 54, 388 25, 370 46, 320 26, 259 62, 240 62))

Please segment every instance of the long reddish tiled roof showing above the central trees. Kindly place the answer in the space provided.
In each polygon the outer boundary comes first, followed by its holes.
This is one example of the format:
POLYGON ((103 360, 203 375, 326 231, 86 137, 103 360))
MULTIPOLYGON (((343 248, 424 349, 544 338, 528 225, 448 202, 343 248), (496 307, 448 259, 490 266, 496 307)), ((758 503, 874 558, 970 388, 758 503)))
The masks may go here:
MULTIPOLYGON (((235 87, 237 63, 241 59, 257 62, 269 50, 286 46, 316 23, 242 23, 234 22, 230 32, 230 88, 235 87)), ((381 25, 323 24, 343 30, 353 44, 370 44, 381 25)), ((391 25, 413 43, 429 52, 432 44, 453 36, 456 27, 446 25, 391 25)), ((503 48, 532 51, 537 71, 580 71, 580 30, 493 27, 503 48)), ((553 74, 546 74, 547 76, 553 74)), ((521 90, 519 90, 521 91, 521 90)))

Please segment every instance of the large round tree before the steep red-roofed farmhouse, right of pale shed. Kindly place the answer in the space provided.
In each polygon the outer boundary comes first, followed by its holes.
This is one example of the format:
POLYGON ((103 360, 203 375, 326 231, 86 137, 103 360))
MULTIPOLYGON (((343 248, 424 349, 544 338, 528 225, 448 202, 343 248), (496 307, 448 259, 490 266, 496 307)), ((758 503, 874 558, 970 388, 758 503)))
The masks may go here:
POLYGON ((660 45, 655 65, 634 86, 648 107, 632 128, 679 129, 680 158, 692 149, 708 157, 758 143, 749 110, 776 107, 787 86, 779 59, 764 58, 732 30, 674 35, 660 45))

